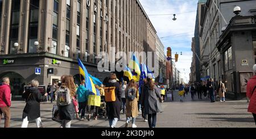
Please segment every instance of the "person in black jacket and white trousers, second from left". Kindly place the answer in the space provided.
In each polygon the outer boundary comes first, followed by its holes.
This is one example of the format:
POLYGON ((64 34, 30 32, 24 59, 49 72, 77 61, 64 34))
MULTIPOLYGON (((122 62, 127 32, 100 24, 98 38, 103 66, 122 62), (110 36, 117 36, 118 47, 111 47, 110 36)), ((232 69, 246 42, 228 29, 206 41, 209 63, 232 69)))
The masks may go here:
POLYGON ((23 110, 23 122, 22 122, 22 128, 27 128, 28 122, 35 120, 36 121, 36 127, 42 128, 43 124, 40 118, 40 102, 42 100, 46 99, 47 93, 42 96, 40 91, 38 90, 39 82, 37 80, 31 81, 31 87, 24 91, 22 94, 22 98, 26 99, 26 106, 23 110))

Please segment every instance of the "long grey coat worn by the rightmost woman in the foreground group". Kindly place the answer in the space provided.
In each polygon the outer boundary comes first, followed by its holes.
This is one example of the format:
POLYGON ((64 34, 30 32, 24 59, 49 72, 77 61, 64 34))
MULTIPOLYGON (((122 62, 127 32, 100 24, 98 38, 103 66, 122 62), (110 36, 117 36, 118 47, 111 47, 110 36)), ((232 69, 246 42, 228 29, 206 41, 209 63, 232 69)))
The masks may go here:
POLYGON ((163 108, 159 102, 161 95, 158 87, 155 86, 154 90, 151 90, 149 85, 144 85, 141 99, 141 104, 144 107, 144 113, 146 115, 163 112, 163 108))

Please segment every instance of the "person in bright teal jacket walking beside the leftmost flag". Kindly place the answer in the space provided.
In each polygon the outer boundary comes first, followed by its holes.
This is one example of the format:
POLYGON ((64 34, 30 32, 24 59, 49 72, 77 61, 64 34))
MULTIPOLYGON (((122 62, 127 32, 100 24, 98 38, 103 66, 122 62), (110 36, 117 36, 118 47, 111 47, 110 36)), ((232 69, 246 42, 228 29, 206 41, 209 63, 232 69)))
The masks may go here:
POLYGON ((79 102, 79 115, 81 113, 81 120, 85 119, 85 108, 88 102, 89 90, 85 89, 85 80, 82 80, 81 85, 76 91, 77 100, 79 102))

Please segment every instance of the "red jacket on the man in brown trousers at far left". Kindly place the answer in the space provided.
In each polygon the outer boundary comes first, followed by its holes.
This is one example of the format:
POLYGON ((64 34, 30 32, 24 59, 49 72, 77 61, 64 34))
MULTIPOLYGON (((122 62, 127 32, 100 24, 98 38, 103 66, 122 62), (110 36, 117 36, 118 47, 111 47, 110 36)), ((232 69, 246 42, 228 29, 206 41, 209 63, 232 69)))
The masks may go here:
POLYGON ((0 107, 11 106, 11 89, 9 85, 3 83, 0 86, 0 107))

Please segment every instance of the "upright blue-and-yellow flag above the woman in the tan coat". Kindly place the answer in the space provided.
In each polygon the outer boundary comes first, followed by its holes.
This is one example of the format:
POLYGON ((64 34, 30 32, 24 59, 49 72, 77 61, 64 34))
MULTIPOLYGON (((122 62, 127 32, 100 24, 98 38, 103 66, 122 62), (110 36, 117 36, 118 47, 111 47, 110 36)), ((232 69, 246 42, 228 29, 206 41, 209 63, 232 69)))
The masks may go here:
POLYGON ((131 57, 128 67, 133 71, 133 79, 135 82, 139 82, 139 78, 141 77, 141 68, 135 54, 133 54, 133 57, 131 57))

